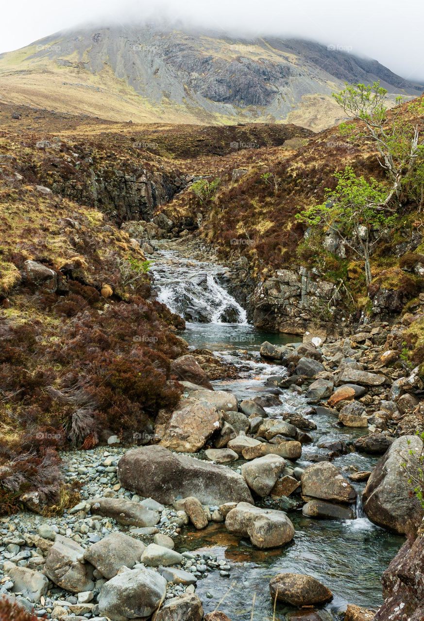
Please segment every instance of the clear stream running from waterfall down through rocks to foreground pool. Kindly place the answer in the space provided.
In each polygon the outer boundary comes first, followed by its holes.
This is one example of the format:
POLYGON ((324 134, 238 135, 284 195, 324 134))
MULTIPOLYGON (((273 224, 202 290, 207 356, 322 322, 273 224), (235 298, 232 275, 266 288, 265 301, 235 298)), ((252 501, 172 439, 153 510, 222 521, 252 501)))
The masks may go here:
MULTIPOLYGON (((214 381, 215 389, 231 391, 239 400, 247 399, 264 390, 267 376, 286 373, 285 367, 261 360, 260 345, 265 340, 284 344, 298 342, 300 338, 262 332, 247 324, 246 312, 224 289, 226 268, 162 251, 155 255, 152 272, 160 301, 187 320, 187 329, 181 335, 190 349, 207 348, 237 366, 237 379, 214 381)), ((308 407, 305 397, 290 389, 282 391, 280 401, 279 406, 265 408, 267 412, 275 416, 279 411, 302 412, 308 407)), ((326 412, 306 417, 318 428, 308 432, 313 442, 302 445, 302 458, 297 461, 301 468, 310 465, 312 456, 325 454, 316 446, 318 440, 349 442, 367 433, 363 428, 339 427, 334 416, 326 412)), ((338 468, 356 466, 362 471, 374 468, 378 459, 378 456, 348 453, 334 458, 332 463, 338 468)), ((361 493, 365 484, 352 484, 358 492, 355 519, 317 520, 304 517, 301 509, 288 510, 296 534, 283 548, 258 550, 248 540, 226 532, 221 524, 210 524, 201 531, 185 529, 178 542, 180 551, 216 555, 232 565, 229 578, 217 579, 211 573, 198 581, 196 593, 205 612, 219 609, 232 621, 272 620, 269 580, 282 572, 310 574, 330 587, 334 599, 320 610, 323 621, 338 618, 347 604, 379 607, 381 574, 404 539, 377 527, 364 516, 361 493)), ((277 604, 275 620, 290 619, 290 615, 285 616, 290 612, 295 609, 277 604)), ((295 615, 293 621, 313 618, 295 615)))

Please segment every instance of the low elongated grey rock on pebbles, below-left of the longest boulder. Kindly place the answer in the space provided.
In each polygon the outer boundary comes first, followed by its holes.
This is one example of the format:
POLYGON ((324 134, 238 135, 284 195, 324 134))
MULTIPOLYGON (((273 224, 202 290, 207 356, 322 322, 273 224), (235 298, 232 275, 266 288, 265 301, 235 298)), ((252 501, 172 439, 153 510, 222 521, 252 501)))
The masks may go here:
POLYGON ((159 522, 159 513, 147 509, 139 502, 124 501, 122 498, 94 498, 88 502, 93 515, 112 517, 118 524, 125 526, 144 528, 155 526, 159 522))

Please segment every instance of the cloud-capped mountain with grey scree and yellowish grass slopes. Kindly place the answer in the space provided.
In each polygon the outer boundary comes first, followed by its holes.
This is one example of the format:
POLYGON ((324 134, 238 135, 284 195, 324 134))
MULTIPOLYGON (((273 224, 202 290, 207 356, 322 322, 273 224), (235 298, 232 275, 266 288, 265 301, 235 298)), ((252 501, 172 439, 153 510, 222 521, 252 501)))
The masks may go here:
POLYGON ((157 25, 67 30, 0 55, 0 101, 118 121, 320 130, 342 118, 335 89, 374 80, 391 99, 424 88, 334 46, 157 25))

